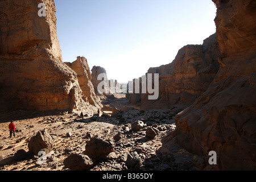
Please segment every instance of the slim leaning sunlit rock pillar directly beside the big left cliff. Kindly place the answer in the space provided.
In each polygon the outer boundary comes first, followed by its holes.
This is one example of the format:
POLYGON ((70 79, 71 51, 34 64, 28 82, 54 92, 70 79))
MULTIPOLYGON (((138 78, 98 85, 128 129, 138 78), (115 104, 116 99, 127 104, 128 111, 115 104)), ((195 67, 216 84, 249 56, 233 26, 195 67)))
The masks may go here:
POLYGON ((77 57, 77 60, 73 63, 65 63, 70 68, 77 73, 77 78, 79 80, 79 85, 84 94, 84 101, 89 102, 98 108, 102 107, 100 97, 98 97, 94 92, 94 87, 91 82, 92 75, 90 73, 90 68, 85 57, 77 57))

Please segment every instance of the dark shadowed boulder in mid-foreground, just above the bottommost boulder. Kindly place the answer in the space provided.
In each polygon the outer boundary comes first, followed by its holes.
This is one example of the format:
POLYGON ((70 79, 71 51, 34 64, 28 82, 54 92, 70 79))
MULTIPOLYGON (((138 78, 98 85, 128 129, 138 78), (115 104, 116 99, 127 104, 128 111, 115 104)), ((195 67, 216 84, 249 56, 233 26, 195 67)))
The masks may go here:
POLYGON ((84 154, 93 160, 106 160, 114 152, 115 143, 101 138, 90 138, 85 145, 84 154))

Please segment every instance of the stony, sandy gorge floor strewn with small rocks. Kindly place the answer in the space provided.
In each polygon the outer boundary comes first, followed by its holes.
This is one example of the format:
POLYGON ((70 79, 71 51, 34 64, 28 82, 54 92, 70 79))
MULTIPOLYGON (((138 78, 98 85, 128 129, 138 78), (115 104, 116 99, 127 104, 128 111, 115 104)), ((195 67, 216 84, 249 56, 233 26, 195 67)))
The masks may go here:
MULTIPOLYGON (((92 138, 114 143, 111 159, 94 161, 89 170, 196 170, 206 159, 189 154, 170 144, 170 132, 175 130, 175 113, 170 110, 137 110, 128 106, 125 98, 108 98, 105 104, 126 105, 125 111, 105 112, 98 116, 86 113, 84 118, 73 113, 38 113, 14 111, 2 113, 0 123, 0 170, 70 170, 64 160, 71 154, 84 155, 85 145, 92 138), (14 120, 15 138, 9 138, 8 125, 14 120), (28 142, 39 130, 47 129, 53 139, 53 149, 46 164, 40 165, 39 156, 28 153, 28 142), (172 150, 162 147, 168 143, 172 150), (26 151, 17 159, 16 153, 26 151), (168 152, 166 152, 168 151, 168 152), (199 164, 200 163, 200 164, 199 164), (197 165, 199 164, 199 165, 197 165)), ((167 145, 168 146, 168 145, 167 145)))

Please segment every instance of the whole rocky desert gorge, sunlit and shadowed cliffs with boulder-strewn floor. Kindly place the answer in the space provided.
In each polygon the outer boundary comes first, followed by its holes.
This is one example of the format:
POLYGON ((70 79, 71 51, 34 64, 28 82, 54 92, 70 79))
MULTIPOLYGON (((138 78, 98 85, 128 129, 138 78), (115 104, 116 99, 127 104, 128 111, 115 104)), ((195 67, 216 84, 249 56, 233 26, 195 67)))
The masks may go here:
POLYGON ((255 170, 256 1, 212 3, 216 33, 148 68, 159 74, 159 97, 148 100, 99 93, 108 70, 86 55, 63 62, 54 1, 0 1, 0 170, 255 170), (31 150, 40 139, 43 165, 31 150))

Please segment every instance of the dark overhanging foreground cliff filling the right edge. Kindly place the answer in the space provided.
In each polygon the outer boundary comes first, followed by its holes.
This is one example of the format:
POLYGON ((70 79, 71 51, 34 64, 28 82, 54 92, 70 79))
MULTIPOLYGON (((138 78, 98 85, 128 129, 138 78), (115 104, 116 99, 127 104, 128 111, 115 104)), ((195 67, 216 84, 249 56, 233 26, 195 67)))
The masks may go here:
POLYGON ((175 118, 172 135, 197 155, 217 153, 222 170, 256 169, 256 2, 214 0, 220 69, 175 118))

